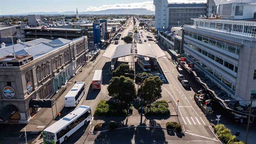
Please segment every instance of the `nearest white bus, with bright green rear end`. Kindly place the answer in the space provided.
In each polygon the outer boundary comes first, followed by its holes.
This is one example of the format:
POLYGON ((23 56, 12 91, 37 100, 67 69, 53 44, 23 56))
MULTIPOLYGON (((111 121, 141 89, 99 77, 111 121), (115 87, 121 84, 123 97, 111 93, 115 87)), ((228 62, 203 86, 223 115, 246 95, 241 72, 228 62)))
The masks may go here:
POLYGON ((92 119, 91 107, 79 106, 43 131, 44 144, 61 143, 92 119))

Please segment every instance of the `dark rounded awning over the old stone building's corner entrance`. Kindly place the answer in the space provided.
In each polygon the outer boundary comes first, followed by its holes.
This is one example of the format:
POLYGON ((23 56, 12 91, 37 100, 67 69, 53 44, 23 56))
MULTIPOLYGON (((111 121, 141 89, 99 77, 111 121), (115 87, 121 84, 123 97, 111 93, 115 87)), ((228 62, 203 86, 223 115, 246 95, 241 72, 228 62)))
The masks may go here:
POLYGON ((0 110, 0 122, 5 122, 12 117, 18 111, 18 108, 13 105, 8 105, 4 109, 0 110))

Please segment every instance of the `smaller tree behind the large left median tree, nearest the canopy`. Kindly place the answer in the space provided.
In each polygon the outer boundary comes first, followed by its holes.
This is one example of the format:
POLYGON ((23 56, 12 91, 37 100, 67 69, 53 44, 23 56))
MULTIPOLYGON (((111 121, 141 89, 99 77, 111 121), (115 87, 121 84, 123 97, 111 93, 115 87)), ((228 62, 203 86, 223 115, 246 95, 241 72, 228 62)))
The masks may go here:
POLYGON ((125 73, 134 74, 134 70, 130 68, 130 66, 126 63, 122 63, 122 65, 118 66, 116 70, 113 70, 113 77, 115 76, 127 76, 131 79, 134 78, 132 75, 125 75, 125 73))

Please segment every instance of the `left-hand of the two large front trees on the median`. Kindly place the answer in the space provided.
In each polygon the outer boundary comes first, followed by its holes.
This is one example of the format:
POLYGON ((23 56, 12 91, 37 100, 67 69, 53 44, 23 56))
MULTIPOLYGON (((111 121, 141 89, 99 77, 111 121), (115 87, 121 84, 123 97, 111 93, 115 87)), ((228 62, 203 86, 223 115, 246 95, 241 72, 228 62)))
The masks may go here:
POLYGON ((107 89, 108 95, 118 100, 125 108, 137 98, 135 84, 129 77, 112 77, 107 89))

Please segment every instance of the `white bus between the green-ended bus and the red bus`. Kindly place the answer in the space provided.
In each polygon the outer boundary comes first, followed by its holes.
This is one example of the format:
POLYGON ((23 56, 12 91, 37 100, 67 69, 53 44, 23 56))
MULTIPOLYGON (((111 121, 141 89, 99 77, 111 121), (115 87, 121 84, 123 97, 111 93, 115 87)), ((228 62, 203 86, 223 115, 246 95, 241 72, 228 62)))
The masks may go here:
POLYGON ((85 90, 84 82, 77 82, 72 89, 67 93, 65 98, 65 107, 76 107, 78 102, 82 99, 85 90))

